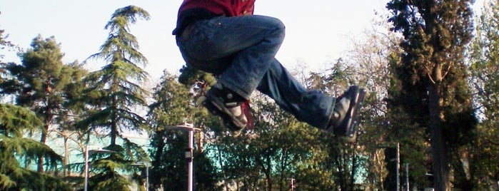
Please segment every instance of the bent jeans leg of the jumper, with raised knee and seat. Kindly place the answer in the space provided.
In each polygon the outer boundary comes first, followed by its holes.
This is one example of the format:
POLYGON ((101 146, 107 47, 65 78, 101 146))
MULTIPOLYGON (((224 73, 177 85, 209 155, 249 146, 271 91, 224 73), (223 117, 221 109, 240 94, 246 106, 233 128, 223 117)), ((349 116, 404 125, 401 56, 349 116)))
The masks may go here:
POLYGON ((188 39, 177 39, 188 63, 218 73, 218 83, 248 99, 273 62, 284 29, 268 16, 220 16, 197 21, 188 39))

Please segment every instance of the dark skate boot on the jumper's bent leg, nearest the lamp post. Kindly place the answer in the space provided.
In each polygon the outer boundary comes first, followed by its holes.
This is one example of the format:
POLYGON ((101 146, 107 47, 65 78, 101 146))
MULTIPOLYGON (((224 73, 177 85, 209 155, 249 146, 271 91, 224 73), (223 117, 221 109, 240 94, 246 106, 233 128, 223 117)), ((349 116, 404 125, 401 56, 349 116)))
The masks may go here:
POLYGON ((205 96, 201 96, 198 102, 213 115, 222 118, 223 123, 232 131, 234 137, 241 135, 241 131, 248 125, 248 119, 244 108, 248 108, 248 101, 237 93, 216 83, 205 96))

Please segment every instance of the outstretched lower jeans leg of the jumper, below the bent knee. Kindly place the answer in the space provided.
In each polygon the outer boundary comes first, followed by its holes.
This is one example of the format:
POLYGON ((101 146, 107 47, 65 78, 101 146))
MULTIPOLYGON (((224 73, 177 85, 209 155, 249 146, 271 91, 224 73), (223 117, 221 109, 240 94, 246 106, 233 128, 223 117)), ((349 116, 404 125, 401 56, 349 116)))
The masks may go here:
POLYGON ((321 91, 303 88, 276 59, 257 89, 275 100, 276 104, 297 120, 316 128, 327 128, 336 98, 326 96, 321 91))

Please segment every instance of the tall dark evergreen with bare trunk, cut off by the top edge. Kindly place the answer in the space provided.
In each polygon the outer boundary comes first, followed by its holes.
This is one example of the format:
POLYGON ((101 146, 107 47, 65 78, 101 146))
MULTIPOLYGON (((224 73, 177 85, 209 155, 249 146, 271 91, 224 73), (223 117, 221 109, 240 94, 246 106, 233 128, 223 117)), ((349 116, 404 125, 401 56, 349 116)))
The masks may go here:
POLYGON ((395 74, 401 89, 393 104, 401 105, 412 123, 428 127, 433 185, 439 191, 450 190, 451 167, 459 160, 454 156, 472 137, 475 123, 463 63, 473 30, 471 3, 392 0, 387 5, 392 30, 403 35, 395 74))

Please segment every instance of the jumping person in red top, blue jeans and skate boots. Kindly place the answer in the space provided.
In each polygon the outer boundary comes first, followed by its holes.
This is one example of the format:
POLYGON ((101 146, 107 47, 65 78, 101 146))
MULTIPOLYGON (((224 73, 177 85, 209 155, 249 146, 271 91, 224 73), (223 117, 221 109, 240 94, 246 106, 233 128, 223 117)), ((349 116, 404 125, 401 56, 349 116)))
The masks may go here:
MULTIPOLYGON (((255 0, 184 0, 173 35, 190 66, 218 76, 203 106, 237 136, 248 125, 245 108, 255 90, 313 127, 353 137, 366 90, 351 86, 338 98, 307 90, 275 58, 284 25, 253 15, 255 0)), ((251 125, 251 124, 249 124, 251 125)))

